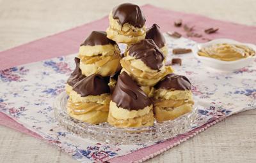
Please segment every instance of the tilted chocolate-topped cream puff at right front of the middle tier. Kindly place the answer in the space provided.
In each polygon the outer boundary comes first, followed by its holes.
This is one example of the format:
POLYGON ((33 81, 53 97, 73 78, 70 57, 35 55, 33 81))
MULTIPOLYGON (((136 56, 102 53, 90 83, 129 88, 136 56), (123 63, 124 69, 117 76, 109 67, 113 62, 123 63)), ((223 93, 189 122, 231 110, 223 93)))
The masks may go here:
POLYGON ((120 62, 122 71, 143 87, 152 87, 173 72, 171 66, 164 66, 164 55, 152 39, 143 39, 129 46, 120 62))

